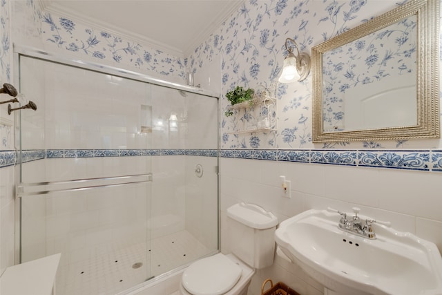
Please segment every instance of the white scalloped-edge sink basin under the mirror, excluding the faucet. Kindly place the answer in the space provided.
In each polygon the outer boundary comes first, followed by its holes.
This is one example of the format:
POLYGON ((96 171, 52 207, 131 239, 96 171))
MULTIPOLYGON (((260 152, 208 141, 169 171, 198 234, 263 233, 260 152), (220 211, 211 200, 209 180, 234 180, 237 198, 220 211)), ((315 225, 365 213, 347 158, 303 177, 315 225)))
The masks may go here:
MULTIPOLYGON (((360 216, 365 219, 365 216, 360 216)), ((319 283, 338 294, 442 294, 442 258, 434 243, 374 224, 370 240, 338 228, 340 215, 308 210, 280 223, 276 243, 319 283)))

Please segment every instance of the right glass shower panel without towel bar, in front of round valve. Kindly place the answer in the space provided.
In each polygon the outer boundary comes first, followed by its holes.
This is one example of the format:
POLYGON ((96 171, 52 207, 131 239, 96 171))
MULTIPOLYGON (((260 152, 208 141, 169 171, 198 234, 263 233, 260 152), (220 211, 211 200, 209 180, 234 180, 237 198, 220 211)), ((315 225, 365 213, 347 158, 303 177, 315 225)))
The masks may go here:
POLYGON ((218 99, 152 86, 152 273, 218 251, 218 99))

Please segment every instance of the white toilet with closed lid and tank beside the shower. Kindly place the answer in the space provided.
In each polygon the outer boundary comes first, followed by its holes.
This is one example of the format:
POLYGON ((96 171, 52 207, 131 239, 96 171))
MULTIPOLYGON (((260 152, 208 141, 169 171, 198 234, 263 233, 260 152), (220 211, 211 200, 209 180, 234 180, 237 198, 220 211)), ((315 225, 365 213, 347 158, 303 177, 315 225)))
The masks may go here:
POLYGON ((278 219, 256 204, 227 209, 231 254, 221 253, 189 265, 182 274, 183 295, 246 295, 255 269, 273 264, 278 219))

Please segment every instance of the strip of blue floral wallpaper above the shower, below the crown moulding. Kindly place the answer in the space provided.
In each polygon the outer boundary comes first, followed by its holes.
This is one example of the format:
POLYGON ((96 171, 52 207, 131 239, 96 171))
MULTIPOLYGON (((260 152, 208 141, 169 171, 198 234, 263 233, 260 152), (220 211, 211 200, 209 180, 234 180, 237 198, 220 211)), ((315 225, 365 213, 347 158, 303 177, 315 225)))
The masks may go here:
MULTIPOLYGON (((32 33, 39 35, 45 48, 52 52, 61 51, 71 56, 80 55, 97 64, 134 70, 172 82, 184 82, 185 74, 191 68, 187 58, 175 57, 161 50, 148 48, 106 30, 84 26, 75 19, 53 15, 42 10, 34 0, 20 2, 15 6, 26 4, 17 10, 26 10, 26 16, 32 15, 35 23, 33 26, 35 32, 32 33)), ((19 23, 17 18, 15 21, 17 26, 26 28, 26 24, 19 23)))

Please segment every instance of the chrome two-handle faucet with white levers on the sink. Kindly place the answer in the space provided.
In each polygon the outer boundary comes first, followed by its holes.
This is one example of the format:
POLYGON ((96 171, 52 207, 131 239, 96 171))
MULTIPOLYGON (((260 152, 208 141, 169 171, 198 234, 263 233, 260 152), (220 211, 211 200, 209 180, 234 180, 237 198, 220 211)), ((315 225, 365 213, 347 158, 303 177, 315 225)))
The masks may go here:
MULTIPOLYGON (((359 218, 358 213, 361 211, 358 207, 352 208, 354 211, 354 216, 352 218, 347 219, 347 213, 334 210, 329 208, 329 210, 338 212, 341 216, 339 220, 339 228, 343 231, 347 231, 351 234, 355 234, 357 236, 362 236, 364 238, 369 238, 371 240, 376 239, 376 234, 374 234, 374 229, 372 227, 372 223, 376 222, 376 220, 372 219, 366 219, 365 225, 362 225, 361 218, 359 218)), ((382 223, 383 225, 390 226, 390 222, 383 222, 378 221, 379 223, 382 223)))

